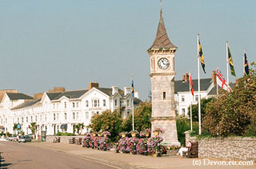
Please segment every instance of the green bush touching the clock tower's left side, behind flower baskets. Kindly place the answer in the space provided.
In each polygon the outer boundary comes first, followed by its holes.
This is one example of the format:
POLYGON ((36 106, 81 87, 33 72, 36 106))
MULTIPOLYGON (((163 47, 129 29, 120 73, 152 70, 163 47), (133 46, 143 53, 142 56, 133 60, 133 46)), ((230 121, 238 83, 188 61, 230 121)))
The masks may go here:
MULTIPOLYGON (((146 128, 151 128, 152 104, 150 102, 143 102, 139 104, 138 108, 134 109, 134 130, 141 132, 146 128)), ((130 132, 133 129, 132 126, 133 117, 132 114, 128 116, 126 120, 122 122, 123 131, 130 132)))

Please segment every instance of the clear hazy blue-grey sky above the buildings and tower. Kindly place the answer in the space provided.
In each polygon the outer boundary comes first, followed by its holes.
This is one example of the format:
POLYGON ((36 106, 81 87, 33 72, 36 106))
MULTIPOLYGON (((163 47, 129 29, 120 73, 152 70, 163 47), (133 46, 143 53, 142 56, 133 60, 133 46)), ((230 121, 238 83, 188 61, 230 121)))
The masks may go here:
MULTIPOLYGON (((149 100, 150 58, 159 22, 159 0, 0 1, 0 90, 33 96, 56 87, 130 87, 149 100)), ((243 53, 256 60, 256 1, 163 0, 163 19, 175 55, 175 80, 198 78, 197 33, 206 74, 218 67, 226 77, 229 41, 237 77, 243 53)), ((230 81, 235 77, 230 75, 230 81)))

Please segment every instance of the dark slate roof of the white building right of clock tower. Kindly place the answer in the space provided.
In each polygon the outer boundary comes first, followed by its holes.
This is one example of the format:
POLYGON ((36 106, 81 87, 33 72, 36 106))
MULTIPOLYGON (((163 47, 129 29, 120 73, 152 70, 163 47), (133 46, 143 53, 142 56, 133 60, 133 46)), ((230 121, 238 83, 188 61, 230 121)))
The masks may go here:
MULTIPOLYGON (((198 80, 192 80, 193 81, 193 88, 194 91, 198 91, 198 80)), ((210 85, 211 85, 212 81, 211 78, 207 78, 207 79, 201 79, 200 80, 200 91, 206 91, 210 85)), ((175 88, 175 93, 177 92, 190 92, 190 81, 174 81, 174 88, 175 88)))

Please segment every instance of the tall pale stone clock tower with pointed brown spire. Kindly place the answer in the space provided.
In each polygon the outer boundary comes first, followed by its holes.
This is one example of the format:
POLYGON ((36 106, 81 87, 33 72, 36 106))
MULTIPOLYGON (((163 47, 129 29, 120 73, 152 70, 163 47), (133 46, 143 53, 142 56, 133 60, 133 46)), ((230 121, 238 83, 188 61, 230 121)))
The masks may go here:
POLYGON ((174 111, 174 57, 178 48, 167 36, 160 10, 157 35, 147 52, 150 55, 150 80, 152 93, 151 129, 162 128, 162 144, 180 146, 174 111))

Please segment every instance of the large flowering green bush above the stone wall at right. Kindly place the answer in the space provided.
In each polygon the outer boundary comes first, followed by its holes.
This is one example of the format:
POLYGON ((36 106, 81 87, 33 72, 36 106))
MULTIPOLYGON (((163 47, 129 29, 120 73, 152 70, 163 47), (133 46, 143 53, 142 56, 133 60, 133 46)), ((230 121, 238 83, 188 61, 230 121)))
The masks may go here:
POLYGON ((238 79, 233 92, 223 92, 206 106, 202 132, 211 136, 256 136, 256 71, 238 79))

